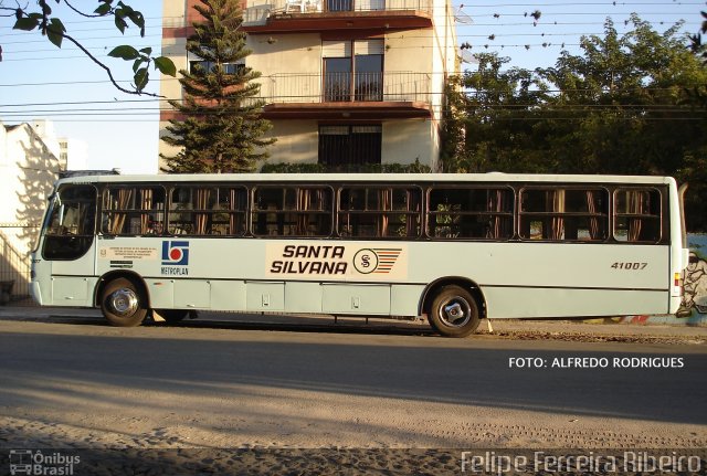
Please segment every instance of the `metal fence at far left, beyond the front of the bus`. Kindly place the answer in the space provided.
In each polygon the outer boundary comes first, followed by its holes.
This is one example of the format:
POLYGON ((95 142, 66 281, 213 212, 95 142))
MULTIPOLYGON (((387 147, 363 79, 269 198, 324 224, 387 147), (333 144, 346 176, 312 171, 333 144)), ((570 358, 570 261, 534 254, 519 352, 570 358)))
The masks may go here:
POLYGON ((0 304, 31 305, 31 250, 39 225, 0 223, 0 304))

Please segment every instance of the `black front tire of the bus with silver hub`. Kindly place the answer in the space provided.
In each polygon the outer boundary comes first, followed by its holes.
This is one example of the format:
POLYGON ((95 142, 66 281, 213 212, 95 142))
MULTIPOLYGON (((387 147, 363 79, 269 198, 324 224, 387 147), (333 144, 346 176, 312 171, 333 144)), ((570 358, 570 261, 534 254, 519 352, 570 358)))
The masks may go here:
POLYGON ((145 295, 130 279, 109 282, 101 295, 101 310, 108 322, 117 327, 135 327, 147 316, 145 295))

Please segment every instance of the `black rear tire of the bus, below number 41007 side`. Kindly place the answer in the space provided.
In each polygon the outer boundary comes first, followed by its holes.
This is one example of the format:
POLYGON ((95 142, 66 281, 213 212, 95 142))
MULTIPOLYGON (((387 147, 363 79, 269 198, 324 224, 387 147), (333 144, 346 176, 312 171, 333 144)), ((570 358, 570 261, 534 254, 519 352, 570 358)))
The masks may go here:
POLYGON ((481 321, 478 304, 463 287, 444 286, 432 300, 428 320, 442 336, 466 337, 481 321))

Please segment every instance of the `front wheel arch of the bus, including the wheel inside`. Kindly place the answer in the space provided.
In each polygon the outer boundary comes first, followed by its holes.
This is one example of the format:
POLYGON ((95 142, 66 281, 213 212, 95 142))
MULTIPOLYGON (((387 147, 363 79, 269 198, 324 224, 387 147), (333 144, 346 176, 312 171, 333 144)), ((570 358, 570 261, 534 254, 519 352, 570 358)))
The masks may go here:
POLYGON ((147 286, 135 273, 108 273, 96 288, 96 305, 113 326, 139 326, 149 309, 147 286))

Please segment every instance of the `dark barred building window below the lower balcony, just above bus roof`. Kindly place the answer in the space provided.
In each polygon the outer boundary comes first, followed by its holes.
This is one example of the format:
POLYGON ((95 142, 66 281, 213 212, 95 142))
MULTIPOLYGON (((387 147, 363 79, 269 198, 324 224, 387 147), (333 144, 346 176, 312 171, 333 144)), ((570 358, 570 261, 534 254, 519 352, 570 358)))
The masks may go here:
POLYGON ((381 126, 320 126, 319 163, 331 167, 381 162, 381 126))

